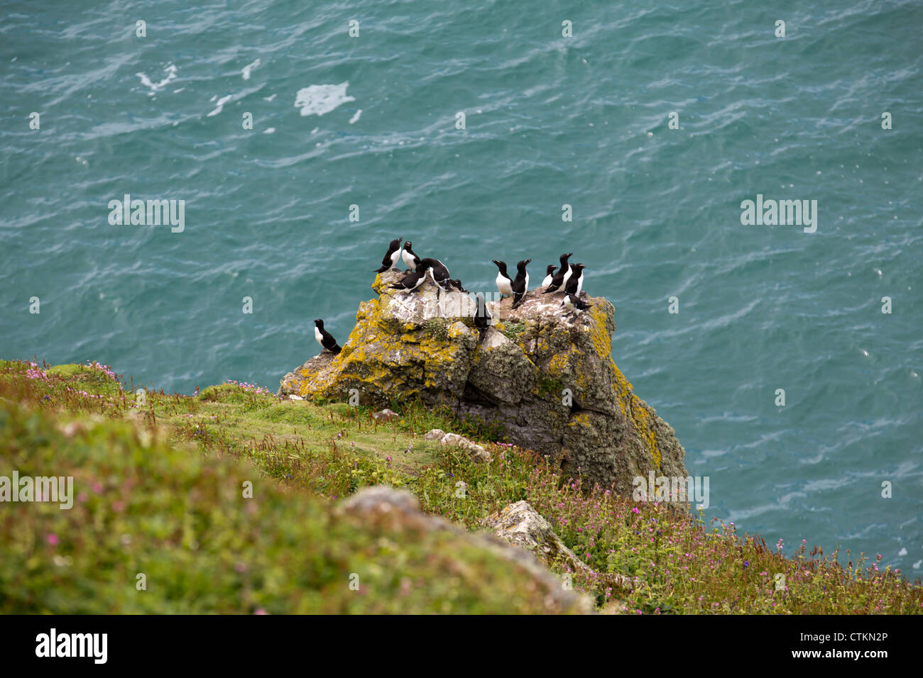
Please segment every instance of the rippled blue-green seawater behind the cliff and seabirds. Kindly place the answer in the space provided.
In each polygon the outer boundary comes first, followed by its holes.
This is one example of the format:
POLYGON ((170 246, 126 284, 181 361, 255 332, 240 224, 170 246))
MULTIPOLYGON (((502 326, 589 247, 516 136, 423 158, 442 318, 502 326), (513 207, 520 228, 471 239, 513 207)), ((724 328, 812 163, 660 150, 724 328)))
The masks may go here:
POLYGON ((921 29, 901 0, 0 3, 0 357, 275 390, 391 238, 472 291, 573 251, 707 517, 917 577, 921 29), (185 231, 110 225, 125 194, 185 231), (757 194, 817 232, 742 225, 757 194))

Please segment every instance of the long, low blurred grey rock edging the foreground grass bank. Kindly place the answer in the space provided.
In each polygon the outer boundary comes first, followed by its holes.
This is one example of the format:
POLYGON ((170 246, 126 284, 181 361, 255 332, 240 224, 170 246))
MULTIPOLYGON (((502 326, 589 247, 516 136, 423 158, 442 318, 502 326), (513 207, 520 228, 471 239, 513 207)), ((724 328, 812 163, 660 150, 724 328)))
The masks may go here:
POLYGON ((363 525, 380 525, 391 530, 414 529, 445 531, 474 547, 519 565, 532 583, 545 591, 545 606, 549 613, 592 613, 593 602, 585 595, 565 589, 562 580, 555 577, 533 555, 500 541, 489 534, 472 534, 441 517, 429 516, 420 509, 416 497, 406 490, 396 490, 387 485, 376 485, 359 490, 336 509, 341 515, 354 517, 363 525))

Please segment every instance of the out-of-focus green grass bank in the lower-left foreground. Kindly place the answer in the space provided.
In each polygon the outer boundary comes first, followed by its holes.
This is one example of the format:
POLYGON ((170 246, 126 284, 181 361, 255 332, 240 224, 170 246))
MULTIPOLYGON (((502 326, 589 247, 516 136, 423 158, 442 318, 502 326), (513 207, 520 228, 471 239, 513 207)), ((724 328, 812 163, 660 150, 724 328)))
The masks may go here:
MULTIPOLYGON (((546 586, 464 535, 340 516, 248 463, 168 443, 169 426, 150 433, 79 406, 63 416, 63 372, 43 394, 10 372, 7 363, 0 474, 72 476, 77 498, 69 510, 4 507, 0 613, 548 611, 546 586)), ((158 394, 152 408, 176 402, 158 394)))

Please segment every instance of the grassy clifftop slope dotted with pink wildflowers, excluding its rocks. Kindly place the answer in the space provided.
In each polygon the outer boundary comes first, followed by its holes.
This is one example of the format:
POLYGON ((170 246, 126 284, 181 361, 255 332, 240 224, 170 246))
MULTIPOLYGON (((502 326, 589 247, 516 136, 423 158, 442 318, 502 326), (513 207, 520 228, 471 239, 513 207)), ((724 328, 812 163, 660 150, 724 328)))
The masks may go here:
POLYGON ((610 611, 923 611, 918 582, 861 556, 847 553, 841 566, 838 553, 803 546, 785 558, 733 526, 585 492, 555 460, 512 446, 485 442, 495 460, 473 464, 422 434, 485 441, 496 432, 445 411, 395 404, 402 417, 377 422, 363 408, 262 391, 150 392, 141 406, 99 366, 0 363, 0 475, 52 468, 85 494, 70 511, 19 504, 0 514, 0 540, 11 546, 0 612, 542 611, 542 596, 522 586, 528 577, 457 538, 384 535, 330 512, 377 483, 404 486, 426 511, 469 529, 527 499, 593 568, 575 586, 610 611), (241 499, 245 479, 253 500, 241 499), (346 586, 344 573, 356 571, 363 595, 346 586), (138 572, 148 576, 145 595, 136 595, 138 572))

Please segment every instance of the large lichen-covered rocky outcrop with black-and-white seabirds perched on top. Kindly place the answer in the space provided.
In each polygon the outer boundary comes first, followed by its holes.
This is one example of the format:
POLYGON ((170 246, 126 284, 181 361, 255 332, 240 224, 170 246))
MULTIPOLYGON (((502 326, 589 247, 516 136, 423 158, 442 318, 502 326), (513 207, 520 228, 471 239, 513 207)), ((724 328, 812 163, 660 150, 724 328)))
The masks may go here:
POLYGON ((604 298, 584 292, 591 305, 576 318, 561 294, 540 290, 515 310, 509 299, 489 303, 493 326, 479 342, 469 295, 428 280, 416 291, 391 290, 400 276, 378 275, 378 298, 360 304, 342 352, 323 352, 285 375, 280 395, 446 404, 619 493, 651 470, 686 477, 673 429, 612 361, 615 309, 604 298))

